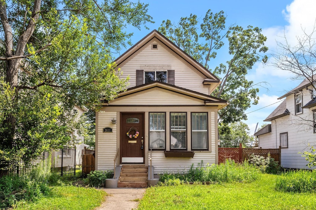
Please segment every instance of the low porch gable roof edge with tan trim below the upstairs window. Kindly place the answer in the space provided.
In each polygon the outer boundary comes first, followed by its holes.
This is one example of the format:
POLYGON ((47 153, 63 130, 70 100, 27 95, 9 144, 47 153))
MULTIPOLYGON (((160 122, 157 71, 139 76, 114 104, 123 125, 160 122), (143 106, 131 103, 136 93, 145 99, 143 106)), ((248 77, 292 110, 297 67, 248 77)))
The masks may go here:
MULTIPOLYGON (((222 109, 228 105, 228 102, 226 100, 223 100, 223 99, 220 99, 217 97, 213 97, 210 95, 206 95, 203 93, 199 93, 196 91, 192 91, 192 90, 189 90, 189 89, 186 89, 183 87, 170 85, 170 84, 167 84, 167 83, 164 83, 161 81, 153 81, 153 82, 149 82, 149 83, 146 83, 143 85, 128 88, 125 92, 119 93, 119 96, 117 97, 117 99, 122 98, 124 96, 134 94, 134 93, 143 92, 145 90, 149 90, 149 89, 156 88, 156 87, 167 90, 167 91, 171 91, 174 93, 179 93, 181 95, 189 96, 192 98, 204 100, 204 105, 206 105, 206 106, 218 106, 219 109, 222 109)), ((108 103, 106 103, 106 101, 104 101, 104 102, 105 103, 102 103, 102 105, 109 105, 108 103)))

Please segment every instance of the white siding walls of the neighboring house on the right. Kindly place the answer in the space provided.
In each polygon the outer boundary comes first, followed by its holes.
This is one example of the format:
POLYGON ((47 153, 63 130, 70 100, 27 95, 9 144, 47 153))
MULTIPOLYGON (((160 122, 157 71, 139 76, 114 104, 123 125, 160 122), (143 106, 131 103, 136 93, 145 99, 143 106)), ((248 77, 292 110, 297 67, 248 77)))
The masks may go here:
MULTIPOLYGON (((309 91, 304 89, 303 105, 310 100, 309 91)), ((281 165, 284 168, 308 168, 308 162, 299 152, 308 151, 307 144, 316 141, 316 133, 313 133, 312 127, 312 110, 316 107, 303 109, 302 114, 295 116, 294 94, 286 97, 286 106, 290 115, 271 121, 272 133, 259 136, 259 147, 279 148, 280 133, 288 132, 288 148, 281 149, 281 165)))

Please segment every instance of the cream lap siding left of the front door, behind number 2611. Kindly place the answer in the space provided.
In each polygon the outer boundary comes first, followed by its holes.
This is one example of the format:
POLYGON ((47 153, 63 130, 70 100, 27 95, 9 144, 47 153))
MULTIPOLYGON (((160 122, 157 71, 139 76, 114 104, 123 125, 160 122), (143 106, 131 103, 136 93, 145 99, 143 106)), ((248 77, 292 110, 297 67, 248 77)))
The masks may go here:
POLYGON ((113 170, 114 156, 116 154, 116 132, 117 124, 112 124, 112 119, 116 118, 116 112, 98 113, 98 170, 113 170), (103 133, 103 128, 111 127, 113 133, 103 133))

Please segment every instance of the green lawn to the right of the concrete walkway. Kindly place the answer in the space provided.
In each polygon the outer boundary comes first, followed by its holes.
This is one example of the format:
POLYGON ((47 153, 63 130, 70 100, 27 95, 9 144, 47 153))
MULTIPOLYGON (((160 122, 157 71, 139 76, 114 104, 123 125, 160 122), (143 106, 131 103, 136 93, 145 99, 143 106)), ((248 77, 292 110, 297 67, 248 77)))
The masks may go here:
POLYGON ((137 210, 303 210, 316 209, 315 193, 274 190, 277 175, 263 174, 252 183, 178 185, 146 190, 137 210))

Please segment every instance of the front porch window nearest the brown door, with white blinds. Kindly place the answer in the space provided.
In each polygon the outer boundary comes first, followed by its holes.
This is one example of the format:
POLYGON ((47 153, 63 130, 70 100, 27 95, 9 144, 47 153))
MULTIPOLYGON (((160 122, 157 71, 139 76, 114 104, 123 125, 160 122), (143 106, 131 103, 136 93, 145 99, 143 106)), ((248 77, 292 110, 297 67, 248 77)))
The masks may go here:
POLYGON ((149 113, 149 149, 165 149, 165 119, 165 113, 149 113))

